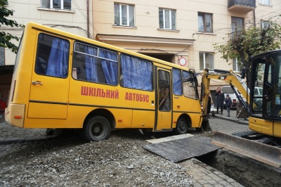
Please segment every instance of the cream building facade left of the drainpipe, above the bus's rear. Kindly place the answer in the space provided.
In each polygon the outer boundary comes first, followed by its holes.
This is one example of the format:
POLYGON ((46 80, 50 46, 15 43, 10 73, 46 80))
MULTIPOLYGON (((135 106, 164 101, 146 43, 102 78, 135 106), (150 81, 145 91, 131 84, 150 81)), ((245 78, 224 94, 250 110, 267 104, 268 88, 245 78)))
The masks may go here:
MULTIPOLYGON (((8 0, 7 8, 13 10, 13 16, 8 19, 16 20, 19 24, 26 25, 27 22, 37 22, 59 30, 79 34, 83 37, 92 37, 93 27, 91 0, 71 1, 71 0, 8 0), (88 3, 87 3, 88 2, 88 3)), ((21 37, 23 28, 2 27, 3 30, 21 37)), ((16 42, 14 42, 16 43, 16 42)), ((3 49, 2 49, 3 51, 3 49)), ((5 60, 3 65, 13 65, 15 54, 9 49, 5 49, 5 60)))

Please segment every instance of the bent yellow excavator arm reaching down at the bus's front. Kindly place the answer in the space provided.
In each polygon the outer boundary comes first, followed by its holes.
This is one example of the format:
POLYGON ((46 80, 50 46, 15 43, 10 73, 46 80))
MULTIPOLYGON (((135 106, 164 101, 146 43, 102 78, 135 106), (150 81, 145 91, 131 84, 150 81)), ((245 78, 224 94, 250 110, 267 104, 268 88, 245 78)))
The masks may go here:
POLYGON ((230 86, 233 88, 233 91, 235 92, 238 100, 244 108, 247 109, 249 112, 249 89, 247 88, 247 85, 243 82, 241 77, 236 75, 232 70, 226 71, 226 70, 214 70, 214 72, 209 72, 208 69, 204 70, 204 74, 202 76, 202 107, 203 107, 203 117, 207 117, 207 107, 208 107, 208 97, 209 97, 209 86, 210 86, 210 80, 216 79, 221 80, 224 82, 228 82, 230 86), (239 91, 239 92, 237 92, 239 91))

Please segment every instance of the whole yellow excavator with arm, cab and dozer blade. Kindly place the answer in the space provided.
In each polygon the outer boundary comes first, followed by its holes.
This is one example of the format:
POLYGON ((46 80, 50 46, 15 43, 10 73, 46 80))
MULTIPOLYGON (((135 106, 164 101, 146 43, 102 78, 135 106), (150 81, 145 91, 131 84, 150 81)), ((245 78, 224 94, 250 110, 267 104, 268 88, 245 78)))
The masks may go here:
MULTIPOLYGON (((230 84, 238 100, 249 113, 249 129, 251 131, 263 137, 271 138, 273 141, 280 141, 281 50, 268 51, 252 57, 251 68, 244 69, 241 77, 231 70, 204 70, 204 75, 202 76, 204 119, 207 119, 207 103, 211 79, 222 80, 230 84), (247 77, 248 84, 245 84, 244 77, 247 77), (254 93, 254 87, 258 83, 263 87, 262 95, 254 93)), ((213 143, 265 162, 268 165, 281 166, 281 149, 278 145, 269 146, 259 141, 220 132, 215 132, 213 143)))

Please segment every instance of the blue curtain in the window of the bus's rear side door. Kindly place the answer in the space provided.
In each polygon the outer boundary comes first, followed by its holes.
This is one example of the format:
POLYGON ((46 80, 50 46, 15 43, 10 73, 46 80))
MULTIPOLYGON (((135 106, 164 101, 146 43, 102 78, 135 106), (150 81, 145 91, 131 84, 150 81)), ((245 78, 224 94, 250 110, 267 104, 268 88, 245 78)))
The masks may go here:
POLYGON ((67 77, 69 50, 70 43, 68 41, 53 38, 46 75, 62 78, 67 77))

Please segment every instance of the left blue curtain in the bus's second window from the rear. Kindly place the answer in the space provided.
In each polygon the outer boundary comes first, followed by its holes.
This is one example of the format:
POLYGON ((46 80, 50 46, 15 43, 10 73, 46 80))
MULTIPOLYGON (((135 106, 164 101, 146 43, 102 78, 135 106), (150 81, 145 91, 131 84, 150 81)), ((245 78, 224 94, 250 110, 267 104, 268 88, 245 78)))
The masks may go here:
POLYGON ((94 49, 91 46, 84 46, 85 53, 91 55, 85 55, 86 65, 86 80, 91 82, 98 82, 98 72, 96 68, 96 58, 93 58, 94 49))

